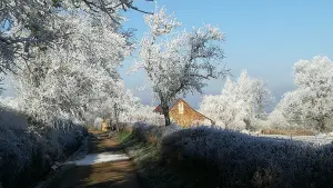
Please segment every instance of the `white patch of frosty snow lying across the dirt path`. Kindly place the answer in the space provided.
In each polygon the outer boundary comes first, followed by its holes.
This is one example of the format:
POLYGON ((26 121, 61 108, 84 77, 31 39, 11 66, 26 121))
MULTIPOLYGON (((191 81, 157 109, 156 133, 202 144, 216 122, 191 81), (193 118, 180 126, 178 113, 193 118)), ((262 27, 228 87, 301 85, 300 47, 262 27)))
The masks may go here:
POLYGON ((83 159, 68 161, 67 164, 74 164, 77 166, 88 166, 88 165, 128 160, 128 159, 129 157, 123 154, 119 155, 113 152, 101 152, 101 154, 89 154, 83 159))

